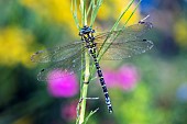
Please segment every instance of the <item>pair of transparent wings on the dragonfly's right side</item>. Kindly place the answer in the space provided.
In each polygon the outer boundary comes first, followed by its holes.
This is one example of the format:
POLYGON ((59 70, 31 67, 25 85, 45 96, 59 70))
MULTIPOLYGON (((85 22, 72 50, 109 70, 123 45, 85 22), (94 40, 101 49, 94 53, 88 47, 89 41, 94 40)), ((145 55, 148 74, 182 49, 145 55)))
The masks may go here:
POLYGON ((100 52, 103 41, 108 37, 107 43, 102 46, 102 52, 110 45, 102 59, 123 59, 145 53, 153 47, 153 43, 143 40, 141 36, 153 27, 151 22, 139 22, 138 24, 125 27, 124 30, 102 33, 96 36, 95 42, 100 52))

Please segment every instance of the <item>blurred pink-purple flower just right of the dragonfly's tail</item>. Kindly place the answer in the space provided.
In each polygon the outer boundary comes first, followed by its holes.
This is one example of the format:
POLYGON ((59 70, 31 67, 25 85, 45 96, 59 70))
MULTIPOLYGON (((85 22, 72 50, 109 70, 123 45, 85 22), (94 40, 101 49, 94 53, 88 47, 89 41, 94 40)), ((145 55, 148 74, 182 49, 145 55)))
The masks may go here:
POLYGON ((124 65, 118 71, 105 70, 103 77, 109 88, 117 87, 123 90, 134 88, 140 76, 134 66, 124 65))

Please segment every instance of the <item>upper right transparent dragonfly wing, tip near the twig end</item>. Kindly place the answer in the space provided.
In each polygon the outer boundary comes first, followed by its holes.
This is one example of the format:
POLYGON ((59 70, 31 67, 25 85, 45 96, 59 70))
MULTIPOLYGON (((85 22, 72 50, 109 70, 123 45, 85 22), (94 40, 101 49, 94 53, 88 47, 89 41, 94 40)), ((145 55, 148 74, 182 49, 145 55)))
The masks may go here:
POLYGON ((123 42, 135 41, 152 27, 153 24, 151 22, 139 22, 138 24, 127 26, 124 30, 100 33, 96 36, 96 40, 103 41, 108 37, 109 41, 116 42, 116 37, 118 37, 123 38, 123 42))

